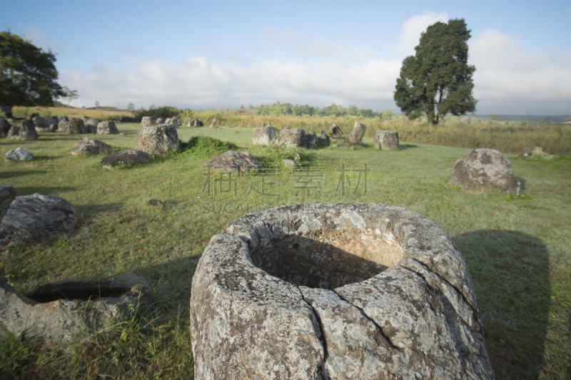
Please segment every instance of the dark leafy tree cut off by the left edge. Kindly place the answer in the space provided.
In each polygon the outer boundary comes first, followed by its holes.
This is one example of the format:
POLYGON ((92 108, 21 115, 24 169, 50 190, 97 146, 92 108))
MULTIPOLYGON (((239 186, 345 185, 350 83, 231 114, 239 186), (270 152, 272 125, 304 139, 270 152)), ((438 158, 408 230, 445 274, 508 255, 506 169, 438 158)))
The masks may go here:
POLYGON ((10 31, 0 32, 0 105, 52 106, 66 93, 56 82, 56 56, 10 31))

